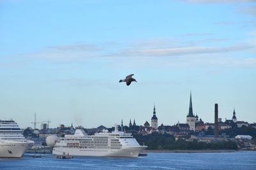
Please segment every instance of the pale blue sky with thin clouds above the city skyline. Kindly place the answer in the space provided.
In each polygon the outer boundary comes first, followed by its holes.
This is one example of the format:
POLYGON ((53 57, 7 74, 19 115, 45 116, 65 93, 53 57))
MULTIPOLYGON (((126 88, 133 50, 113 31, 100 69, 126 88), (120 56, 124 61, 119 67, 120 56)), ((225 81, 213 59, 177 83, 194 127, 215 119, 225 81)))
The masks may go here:
MULTIPOLYGON (((256 1, 0 0, 0 118, 256 122, 256 1), (118 83, 127 74, 138 83, 118 83)), ((39 127, 39 126, 38 126, 39 127)))

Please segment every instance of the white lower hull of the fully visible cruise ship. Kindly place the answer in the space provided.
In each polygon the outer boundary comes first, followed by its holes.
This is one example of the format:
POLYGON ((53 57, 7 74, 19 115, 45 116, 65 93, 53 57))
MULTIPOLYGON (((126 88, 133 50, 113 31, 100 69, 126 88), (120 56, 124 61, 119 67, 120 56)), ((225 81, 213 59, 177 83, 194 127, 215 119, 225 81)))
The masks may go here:
POLYGON ((100 150, 84 148, 54 148, 54 155, 70 155, 79 157, 138 157, 147 146, 124 146, 120 150, 100 150))

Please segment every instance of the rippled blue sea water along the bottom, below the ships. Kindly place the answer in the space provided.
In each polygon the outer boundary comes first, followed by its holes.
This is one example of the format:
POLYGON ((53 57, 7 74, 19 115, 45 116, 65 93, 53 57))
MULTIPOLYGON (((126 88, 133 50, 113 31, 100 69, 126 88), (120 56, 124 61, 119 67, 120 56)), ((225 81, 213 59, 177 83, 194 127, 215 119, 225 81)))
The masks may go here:
POLYGON ((74 157, 50 154, 0 159, 0 169, 256 169, 256 152, 148 153, 145 157, 74 157))

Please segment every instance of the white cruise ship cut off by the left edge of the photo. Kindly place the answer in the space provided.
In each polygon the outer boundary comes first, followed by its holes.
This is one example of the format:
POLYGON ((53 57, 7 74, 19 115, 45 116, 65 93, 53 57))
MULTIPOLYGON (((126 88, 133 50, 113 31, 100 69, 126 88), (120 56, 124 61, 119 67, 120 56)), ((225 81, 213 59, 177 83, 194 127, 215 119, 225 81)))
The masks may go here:
POLYGON ((13 120, 0 120, 0 157, 20 158, 34 141, 26 140, 13 120))

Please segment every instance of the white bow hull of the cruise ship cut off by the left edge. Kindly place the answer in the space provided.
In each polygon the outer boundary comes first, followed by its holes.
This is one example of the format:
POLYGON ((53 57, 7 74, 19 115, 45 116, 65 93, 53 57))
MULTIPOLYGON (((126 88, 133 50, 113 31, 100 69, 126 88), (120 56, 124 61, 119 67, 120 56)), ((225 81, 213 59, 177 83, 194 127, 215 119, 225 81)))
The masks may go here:
POLYGON ((0 140, 0 157, 20 158, 23 153, 33 145, 33 141, 1 141, 0 140))

